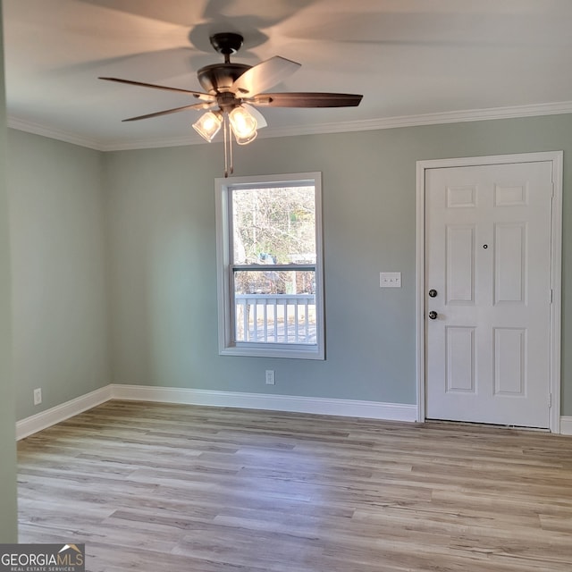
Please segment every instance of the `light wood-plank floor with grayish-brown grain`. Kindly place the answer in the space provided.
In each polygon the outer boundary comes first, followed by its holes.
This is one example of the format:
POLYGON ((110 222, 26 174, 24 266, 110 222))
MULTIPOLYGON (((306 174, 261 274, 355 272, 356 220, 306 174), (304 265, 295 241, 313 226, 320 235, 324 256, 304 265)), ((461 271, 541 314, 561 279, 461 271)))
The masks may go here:
POLYGON ((91 572, 572 570, 572 438, 110 401, 19 443, 91 572))

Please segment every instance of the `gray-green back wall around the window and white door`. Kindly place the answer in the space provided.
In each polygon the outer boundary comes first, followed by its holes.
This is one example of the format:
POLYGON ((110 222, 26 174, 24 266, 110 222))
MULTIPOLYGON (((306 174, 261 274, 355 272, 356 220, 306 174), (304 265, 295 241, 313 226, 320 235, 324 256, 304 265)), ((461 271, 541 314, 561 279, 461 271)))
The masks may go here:
MULTIPOLYGON (((324 362, 220 357, 216 337, 214 178, 220 145, 109 153, 110 301, 115 383, 416 401, 416 161, 565 151, 564 336, 572 302, 568 229, 572 115, 262 139, 236 174, 323 172, 324 362), (400 271, 381 290, 380 271, 400 271), (276 385, 265 385, 265 369, 276 385)), ((572 362, 563 352, 563 411, 572 362)))

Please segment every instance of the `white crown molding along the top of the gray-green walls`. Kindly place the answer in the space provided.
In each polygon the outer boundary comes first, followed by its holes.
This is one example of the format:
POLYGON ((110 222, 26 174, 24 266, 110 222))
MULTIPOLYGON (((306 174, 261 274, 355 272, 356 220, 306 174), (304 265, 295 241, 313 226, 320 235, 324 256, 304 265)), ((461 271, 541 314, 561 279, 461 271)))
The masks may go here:
MULTIPOLYGON (((470 109, 439 114, 403 115, 366 121, 321 123, 276 129, 269 127, 264 131, 260 131, 259 137, 260 139, 271 139, 277 137, 292 137, 295 135, 320 135, 325 133, 344 133, 350 131, 383 130, 399 127, 416 127, 419 125, 435 125, 439 123, 476 122, 493 119, 510 119, 517 117, 570 113, 572 113, 572 101, 562 101, 550 104, 491 107, 488 109, 470 109)), ((103 142, 97 141, 96 139, 84 138, 75 133, 56 130, 47 125, 28 122, 13 116, 8 116, 8 127, 15 130, 34 133, 36 135, 42 135, 50 139, 58 139, 80 147, 88 147, 97 151, 123 151, 130 149, 206 145, 204 141, 197 140, 192 134, 189 134, 189 137, 174 139, 130 139, 129 141, 118 140, 103 142)))

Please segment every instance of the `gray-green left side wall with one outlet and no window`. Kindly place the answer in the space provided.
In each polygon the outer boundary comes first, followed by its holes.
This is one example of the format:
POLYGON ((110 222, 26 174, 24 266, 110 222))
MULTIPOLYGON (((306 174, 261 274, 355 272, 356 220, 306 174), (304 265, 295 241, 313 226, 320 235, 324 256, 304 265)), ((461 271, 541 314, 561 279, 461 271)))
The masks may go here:
POLYGON ((110 383, 105 193, 101 153, 17 130, 8 144, 21 419, 110 383))

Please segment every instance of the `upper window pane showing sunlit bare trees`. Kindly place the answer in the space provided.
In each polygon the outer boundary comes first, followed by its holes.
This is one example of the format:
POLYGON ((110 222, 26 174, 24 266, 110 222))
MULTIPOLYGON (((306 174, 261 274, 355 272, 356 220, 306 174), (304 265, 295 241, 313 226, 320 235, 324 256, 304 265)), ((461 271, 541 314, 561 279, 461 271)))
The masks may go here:
POLYGON ((315 264, 315 189, 232 189, 234 264, 315 264))

